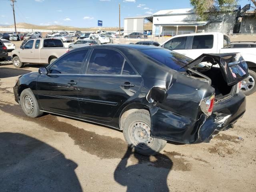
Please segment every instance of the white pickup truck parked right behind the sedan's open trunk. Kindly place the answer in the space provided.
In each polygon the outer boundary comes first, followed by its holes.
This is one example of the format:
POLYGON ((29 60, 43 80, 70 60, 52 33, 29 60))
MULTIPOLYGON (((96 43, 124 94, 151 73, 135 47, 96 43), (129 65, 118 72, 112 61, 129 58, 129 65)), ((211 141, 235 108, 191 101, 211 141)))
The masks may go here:
POLYGON ((256 47, 230 48, 230 38, 222 33, 197 33, 177 35, 162 44, 189 58, 196 59, 203 53, 241 53, 246 61, 250 76, 242 81, 241 91, 250 95, 256 91, 256 47))

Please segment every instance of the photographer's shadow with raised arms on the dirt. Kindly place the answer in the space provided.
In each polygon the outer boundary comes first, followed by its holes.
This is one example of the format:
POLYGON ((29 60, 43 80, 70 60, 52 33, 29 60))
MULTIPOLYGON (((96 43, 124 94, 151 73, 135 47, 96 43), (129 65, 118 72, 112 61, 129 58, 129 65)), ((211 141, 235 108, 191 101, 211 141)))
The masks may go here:
POLYGON ((133 153, 128 147, 116 167, 114 178, 122 186, 127 186, 127 192, 168 192, 167 176, 171 169, 172 160, 168 156, 144 156, 133 153), (129 158, 137 163, 128 166, 129 158))

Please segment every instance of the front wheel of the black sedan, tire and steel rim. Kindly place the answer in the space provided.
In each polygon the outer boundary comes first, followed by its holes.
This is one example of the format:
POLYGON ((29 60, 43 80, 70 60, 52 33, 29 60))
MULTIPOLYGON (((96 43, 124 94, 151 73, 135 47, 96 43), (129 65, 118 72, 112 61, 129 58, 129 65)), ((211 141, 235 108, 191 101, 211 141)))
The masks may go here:
POLYGON ((29 117, 36 118, 36 117, 42 116, 42 114, 44 114, 44 112, 42 112, 39 109, 36 98, 35 98, 33 92, 29 88, 24 89, 21 92, 20 105, 21 105, 23 112, 29 117))

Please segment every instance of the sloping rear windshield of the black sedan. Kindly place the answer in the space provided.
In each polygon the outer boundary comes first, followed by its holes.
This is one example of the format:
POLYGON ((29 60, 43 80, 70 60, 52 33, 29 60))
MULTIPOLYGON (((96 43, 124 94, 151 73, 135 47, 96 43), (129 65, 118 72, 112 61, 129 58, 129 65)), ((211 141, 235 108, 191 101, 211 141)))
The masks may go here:
POLYGON ((185 68, 180 68, 192 61, 182 54, 167 49, 144 49, 140 51, 176 71, 185 71, 185 68))

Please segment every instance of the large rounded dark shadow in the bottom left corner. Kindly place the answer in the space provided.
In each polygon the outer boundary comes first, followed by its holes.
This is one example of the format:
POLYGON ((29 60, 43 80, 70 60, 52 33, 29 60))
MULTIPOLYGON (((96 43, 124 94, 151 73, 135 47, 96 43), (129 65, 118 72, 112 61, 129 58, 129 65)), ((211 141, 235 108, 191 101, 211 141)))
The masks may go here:
POLYGON ((0 133, 1 191, 82 192, 77 164, 52 146, 19 133, 0 133))

